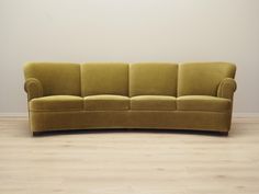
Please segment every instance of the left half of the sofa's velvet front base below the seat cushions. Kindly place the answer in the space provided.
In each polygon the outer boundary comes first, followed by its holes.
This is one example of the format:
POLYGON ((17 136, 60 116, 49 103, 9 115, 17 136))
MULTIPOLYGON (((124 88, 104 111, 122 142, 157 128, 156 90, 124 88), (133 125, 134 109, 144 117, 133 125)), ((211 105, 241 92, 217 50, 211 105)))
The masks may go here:
POLYGON ((126 111, 30 112, 30 124, 32 132, 127 128, 128 116, 126 111))

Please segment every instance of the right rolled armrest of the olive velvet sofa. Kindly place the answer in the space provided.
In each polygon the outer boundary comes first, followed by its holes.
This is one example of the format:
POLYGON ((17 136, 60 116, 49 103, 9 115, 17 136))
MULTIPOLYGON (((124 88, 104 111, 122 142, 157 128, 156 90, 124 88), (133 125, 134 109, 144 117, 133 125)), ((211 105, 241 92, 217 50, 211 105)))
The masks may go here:
POLYGON ((225 78, 221 81, 217 88, 217 96, 232 100, 236 88, 237 84, 233 78, 225 78))

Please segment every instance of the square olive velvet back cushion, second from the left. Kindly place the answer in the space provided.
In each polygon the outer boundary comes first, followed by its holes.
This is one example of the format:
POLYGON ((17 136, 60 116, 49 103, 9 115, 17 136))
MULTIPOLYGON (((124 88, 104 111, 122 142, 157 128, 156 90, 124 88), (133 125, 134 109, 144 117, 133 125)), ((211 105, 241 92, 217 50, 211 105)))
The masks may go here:
POLYGON ((82 95, 128 95, 127 64, 81 65, 82 95))

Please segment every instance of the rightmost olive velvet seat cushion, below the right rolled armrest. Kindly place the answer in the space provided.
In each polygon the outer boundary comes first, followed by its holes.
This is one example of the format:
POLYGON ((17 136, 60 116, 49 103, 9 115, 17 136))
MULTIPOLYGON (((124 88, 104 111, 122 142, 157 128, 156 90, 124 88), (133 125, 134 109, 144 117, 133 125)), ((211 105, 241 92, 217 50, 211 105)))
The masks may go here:
POLYGON ((180 111, 227 111, 232 102, 228 99, 209 95, 183 95, 177 98, 177 109, 180 111))

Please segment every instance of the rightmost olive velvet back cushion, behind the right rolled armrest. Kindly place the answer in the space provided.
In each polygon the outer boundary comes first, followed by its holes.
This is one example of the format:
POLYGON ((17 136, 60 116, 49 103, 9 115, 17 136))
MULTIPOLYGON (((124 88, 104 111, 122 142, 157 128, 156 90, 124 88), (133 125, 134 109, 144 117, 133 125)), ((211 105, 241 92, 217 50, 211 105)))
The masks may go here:
POLYGON ((234 78, 236 66, 227 62, 189 62, 179 66, 178 95, 216 95, 222 79, 234 78))

